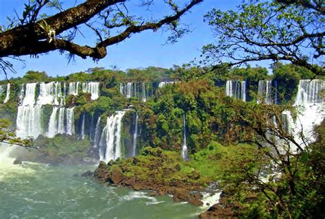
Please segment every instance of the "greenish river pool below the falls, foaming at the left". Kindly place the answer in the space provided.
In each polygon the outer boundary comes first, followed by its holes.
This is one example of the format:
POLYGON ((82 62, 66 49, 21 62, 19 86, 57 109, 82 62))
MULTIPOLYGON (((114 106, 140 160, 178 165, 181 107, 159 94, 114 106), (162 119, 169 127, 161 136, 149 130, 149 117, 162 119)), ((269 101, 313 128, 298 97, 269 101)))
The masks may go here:
POLYGON ((202 211, 169 196, 110 187, 76 176, 95 166, 5 165, 0 159, 0 218, 197 218, 202 211))

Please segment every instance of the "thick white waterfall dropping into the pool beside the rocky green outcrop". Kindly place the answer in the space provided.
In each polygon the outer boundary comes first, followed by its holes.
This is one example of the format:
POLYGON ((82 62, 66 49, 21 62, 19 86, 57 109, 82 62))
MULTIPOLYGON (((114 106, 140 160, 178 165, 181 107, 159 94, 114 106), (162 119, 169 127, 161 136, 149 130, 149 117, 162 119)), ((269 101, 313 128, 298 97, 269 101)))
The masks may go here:
POLYGON ((106 163, 121 157, 121 125, 125 111, 117 111, 107 118, 106 126, 101 133, 99 158, 106 163), (104 147, 106 150, 104 150, 104 147))

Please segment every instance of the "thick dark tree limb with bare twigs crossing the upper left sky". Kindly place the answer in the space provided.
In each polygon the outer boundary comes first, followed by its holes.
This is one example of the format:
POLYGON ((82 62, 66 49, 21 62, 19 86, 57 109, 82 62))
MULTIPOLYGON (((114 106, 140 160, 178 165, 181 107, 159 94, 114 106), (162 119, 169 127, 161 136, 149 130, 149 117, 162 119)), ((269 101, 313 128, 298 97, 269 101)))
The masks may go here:
MULTIPOLYGON (((70 57, 99 60, 106 56, 106 47, 120 43, 132 34, 144 30, 156 31, 160 27, 171 30, 169 40, 174 42, 188 32, 180 27, 180 17, 202 1, 191 0, 184 8, 171 0, 165 1, 172 14, 160 20, 150 20, 136 15, 133 11, 137 8, 132 8, 125 0, 84 0, 84 3, 68 9, 63 9, 57 0, 30 0, 24 4, 21 17, 10 19, 8 27, 0 26, 0 67, 5 72, 12 70, 12 65, 4 57, 37 56, 54 50, 67 51, 70 57), (44 14, 47 7, 58 13, 51 16, 44 14), (75 36, 81 33, 82 26, 97 35, 95 46, 73 42, 75 36)), ((132 3, 149 8, 154 0, 132 3)))

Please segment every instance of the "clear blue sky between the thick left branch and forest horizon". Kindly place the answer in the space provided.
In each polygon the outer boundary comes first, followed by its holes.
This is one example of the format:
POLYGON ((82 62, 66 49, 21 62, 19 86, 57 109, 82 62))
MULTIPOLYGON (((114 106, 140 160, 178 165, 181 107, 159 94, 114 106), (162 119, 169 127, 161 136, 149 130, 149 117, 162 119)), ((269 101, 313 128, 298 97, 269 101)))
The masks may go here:
MULTIPOLYGON (((14 16, 14 9, 18 14, 21 14, 22 5, 26 2, 27 0, 1 0, 0 25, 7 22, 7 16, 14 16)), ((134 34, 127 40, 108 47, 108 56, 99 60, 98 63, 94 63, 91 59, 83 60, 82 58, 76 57, 75 63, 68 64, 67 58, 64 55, 60 55, 58 51, 41 55, 39 58, 23 56, 22 58, 25 60, 25 66, 20 62, 14 62, 17 73, 11 73, 9 78, 23 76, 24 73, 29 70, 45 71, 49 76, 65 76, 69 73, 85 71, 91 67, 110 68, 111 66, 117 66, 119 69, 125 70, 148 66, 169 68, 172 67, 172 65, 182 65, 200 56, 200 49, 203 45, 213 43, 213 32, 211 32, 210 27, 203 22, 203 15, 212 8, 235 10, 236 5, 239 3, 241 3, 241 0, 205 0, 200 5, 195 6, 190 13, 187 13, 182 18, 183 23, 191 25, 193 32, 187 34, 181 38, 178 43, 173 45, 165 45, 167 34, 149 30, 134 34)), ((159 11, 158 6, 153 8, 152 11, 157 12, 157 10, 158 14, 163 14, 162 10, 159 11)), ((86 35, 87 32, 84 34, 86 35)), ((94 42, 94 39, 91 37, 78 38, 77 40, 80 41, 80 43, 94 42)), ((0 80, 3 78, 3 75, 1 75, 0 80)))

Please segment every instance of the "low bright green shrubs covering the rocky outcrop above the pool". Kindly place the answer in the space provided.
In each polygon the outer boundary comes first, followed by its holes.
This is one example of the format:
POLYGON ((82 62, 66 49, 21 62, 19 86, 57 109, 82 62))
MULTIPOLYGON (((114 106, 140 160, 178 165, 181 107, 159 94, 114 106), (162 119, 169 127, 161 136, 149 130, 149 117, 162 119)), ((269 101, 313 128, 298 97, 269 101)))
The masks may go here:
POLYGON ((208 148, 191 154, 188 162, 183 161, 180 152, 145 147, 141 154, 130 159, 110 162, 109 171, 116 168, 128 177, 147 180, 152 177, 161 185, 170 183, 208 186, 224 178, 229 161, 254 159, 256 148, 252 146, 221 146, 211 143, 208 148))

